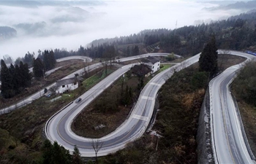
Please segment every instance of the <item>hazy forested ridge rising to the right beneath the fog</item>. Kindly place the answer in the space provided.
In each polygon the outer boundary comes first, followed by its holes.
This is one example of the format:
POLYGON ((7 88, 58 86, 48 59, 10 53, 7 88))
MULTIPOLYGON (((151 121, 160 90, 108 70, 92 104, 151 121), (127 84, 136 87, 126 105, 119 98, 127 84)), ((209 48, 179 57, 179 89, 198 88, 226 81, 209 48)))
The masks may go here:
MULTIPOLYGON (((184 26, 176 29, 155 29, 140 31, 130 36, 120 36, 112 39, 98 39, 91 42, 91 48, 103 44, 113 44, 119 51, 119 46, 127 44, 143 44, 144 47, 159 42, 160 49, 165 52, 175 52, 179 55, 195 55, 204 48, 204 44, 215 36, 217 47, 228 50, 256 50, 256 12, 255 10, 233 16, 227 20, 211 21, 197 26, 184 26)), ((91 55, 94 56, 100 55, 91 55)))

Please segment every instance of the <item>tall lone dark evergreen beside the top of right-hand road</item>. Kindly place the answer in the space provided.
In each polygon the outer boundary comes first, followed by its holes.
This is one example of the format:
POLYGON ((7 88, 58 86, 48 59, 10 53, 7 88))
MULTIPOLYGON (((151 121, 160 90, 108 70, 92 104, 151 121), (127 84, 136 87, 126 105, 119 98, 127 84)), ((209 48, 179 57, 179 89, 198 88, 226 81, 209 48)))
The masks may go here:
POLYGON ((217 45, 215 37, 212 36, 210 42, 203 48, 199 58, 200 71, 207 71, 214 74, 217 71, 217 45))

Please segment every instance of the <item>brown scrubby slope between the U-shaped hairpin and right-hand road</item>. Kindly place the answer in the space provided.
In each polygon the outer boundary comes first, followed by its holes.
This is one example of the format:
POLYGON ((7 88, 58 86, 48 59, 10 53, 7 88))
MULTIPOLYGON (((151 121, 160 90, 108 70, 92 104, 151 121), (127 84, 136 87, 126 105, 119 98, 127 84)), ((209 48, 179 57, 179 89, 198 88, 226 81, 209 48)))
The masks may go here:
MULTIPOLYGON (((245 58, 219 55, 220 70, 241 63, 245 58)), ((208 85, 209 73, 199 65, 173 74, 159 91, 159 112, 153 131, 127 144, 127 148, 100 158, 100 163, 197 163, 197 122, 208 85)))

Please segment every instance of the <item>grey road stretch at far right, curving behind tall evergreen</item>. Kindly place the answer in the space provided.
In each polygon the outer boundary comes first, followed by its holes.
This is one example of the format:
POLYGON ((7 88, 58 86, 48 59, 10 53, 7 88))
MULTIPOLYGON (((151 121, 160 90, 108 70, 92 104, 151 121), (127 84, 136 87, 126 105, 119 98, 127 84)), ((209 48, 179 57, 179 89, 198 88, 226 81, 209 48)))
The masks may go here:
POLYGON ((255 56, 236 51, 230 51, 230 55, 247 59, 243 63, 230 66, 209 83, 211 137, 215 163, 255 163, 249 146, 246 146, 248 143, 246 135, 243 135, 243 124, 230 93, 230 84, 236 77, 236 71, 241 69, 245 62, 255 59, 255 56))

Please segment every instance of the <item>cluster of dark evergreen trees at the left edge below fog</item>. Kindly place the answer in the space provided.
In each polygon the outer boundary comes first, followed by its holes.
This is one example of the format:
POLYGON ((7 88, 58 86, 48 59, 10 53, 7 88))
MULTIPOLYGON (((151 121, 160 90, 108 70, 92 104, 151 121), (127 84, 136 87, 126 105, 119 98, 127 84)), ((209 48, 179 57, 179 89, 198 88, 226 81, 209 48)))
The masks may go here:
POLYGON ((53 69, 56 64, 52 50, 45 50, 42 56, 37 57, 37 59, 34 59, 34 55, 28 53, 25 55, 24 60, 28 63, 23 63, 20 60, 19 64, 15 64, 15 66, 11 63, 9 68, 4 60, 1 60, 1 95, 4 98, 12 98, 18 95, 25 87, 31 86, 33 76, 36 78, 43 77, 45 71, 53 69), (32 58, 32 61, 30 58, 32 58), (33 74, 29 71, 29 64, 34 66, 33 74))

